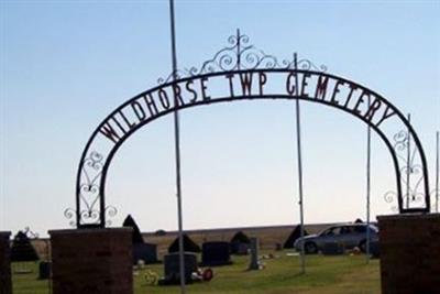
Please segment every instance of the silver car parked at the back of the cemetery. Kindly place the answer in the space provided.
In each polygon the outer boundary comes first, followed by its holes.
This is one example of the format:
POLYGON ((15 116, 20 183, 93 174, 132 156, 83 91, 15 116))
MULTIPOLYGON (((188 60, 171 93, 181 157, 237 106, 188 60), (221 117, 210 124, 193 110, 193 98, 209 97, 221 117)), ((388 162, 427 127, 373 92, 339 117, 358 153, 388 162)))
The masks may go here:
MULTIPOLYGON (((307 254, 315 254, 322 250, 326 243, 342 244, 345 249, 359 247, 362 252, 366 248, 366 224, 345 224, 333 226, 317 235, 309 235, 298 238, 294 247, 297 251, 304 249, 307 254)), ((378 241, 378 229, 374 225, 370 225, 370 241, 378 241)))

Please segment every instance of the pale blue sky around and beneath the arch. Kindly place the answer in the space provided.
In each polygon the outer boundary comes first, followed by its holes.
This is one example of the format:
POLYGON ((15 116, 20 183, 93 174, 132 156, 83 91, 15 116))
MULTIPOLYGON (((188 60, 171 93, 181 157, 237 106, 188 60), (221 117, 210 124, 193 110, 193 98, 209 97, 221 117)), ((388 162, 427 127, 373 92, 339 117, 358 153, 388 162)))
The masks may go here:
MULTIPOLYGON (((79 156, 95 128, 170 72, 167 1, 1 1, 0 230, 68 228, 79 156)), ((294 52, 382 94, 413 123, 435 177, 440 129, 439 1, 176 1, 179 67, 199 67, 238 28, 278 56, 294 52)), ((366 126, 302 104, 305 220, 365 217, 366 126)), ((292 101, 182 112, 184 227, 299 221, 292 101)), ((385 144, 373 135, 373 217, 393 213, 385 144)), ((116 155, 113 225, 177 228, 172 116, 116 155)))

